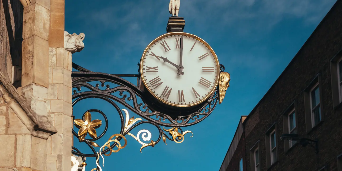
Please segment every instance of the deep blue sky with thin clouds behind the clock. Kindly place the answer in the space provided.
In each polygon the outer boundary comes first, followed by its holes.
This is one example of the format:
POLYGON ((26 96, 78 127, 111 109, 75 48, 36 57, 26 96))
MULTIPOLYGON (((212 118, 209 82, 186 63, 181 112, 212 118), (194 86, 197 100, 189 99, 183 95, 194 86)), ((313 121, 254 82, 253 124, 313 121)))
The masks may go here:
MULTIPOLYGON (((192 131, 194 137, 187 134, 181 144, 160 142, 140 153, 141 145, 126 136, 127 147, 105 156, 103 170, 219 170, 241 115, 248 115, 260 101, 335 2, 181 0, 179 16, 185 19, 184 31, 211 45, 231 74, 231 87, 208 118, 183 129, 192 131)), ((97 72, 137 74, 146 46, 166 33, 168 4, 169 0, 66 1, 65 30, 86 35, 85 47, 73 54, 73 62, 97 72)), ((128 80, 136 83, 136 79, 128 80)), ((103 139, 120 131, 119 116, 102 101, 77 104, 75 118, 91 108, 102 109, 110 120, 103 139)), ((101 119, 94 114, 95 118, 101 119)), ((141 129, 151 130, 152 140, 157 139, 156 129, 150 125, 142 124, 132 133, 141 129)), ((90 153, 84 143, 74 142, 75 147, 90 153)), ((95 167, 94 159, 87 158, 87 163, 86 170, 95 167)))

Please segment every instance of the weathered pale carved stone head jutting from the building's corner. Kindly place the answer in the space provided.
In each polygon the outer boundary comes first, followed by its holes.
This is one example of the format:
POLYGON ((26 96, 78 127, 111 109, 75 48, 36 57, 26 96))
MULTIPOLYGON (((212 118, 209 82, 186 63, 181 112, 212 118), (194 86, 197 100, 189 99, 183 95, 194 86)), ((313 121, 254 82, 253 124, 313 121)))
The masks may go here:
POLYGON ((70 35, 67 31, 64 31, 64 48, 65 50, 75 53, 80 52, 84 48, 84 33, 77 35, 76 33, 70 35))

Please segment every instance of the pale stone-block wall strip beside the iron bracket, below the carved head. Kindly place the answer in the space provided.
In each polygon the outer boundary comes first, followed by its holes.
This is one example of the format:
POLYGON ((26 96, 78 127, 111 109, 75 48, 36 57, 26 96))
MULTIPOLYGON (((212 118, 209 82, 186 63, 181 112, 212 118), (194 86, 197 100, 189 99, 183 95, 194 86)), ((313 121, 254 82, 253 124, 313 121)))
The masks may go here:
POLYGON ((71 166, 71 59, 64 48, 49 48, 48 118, 57 133, 48 139, 47 171, 70 170, 71 166))

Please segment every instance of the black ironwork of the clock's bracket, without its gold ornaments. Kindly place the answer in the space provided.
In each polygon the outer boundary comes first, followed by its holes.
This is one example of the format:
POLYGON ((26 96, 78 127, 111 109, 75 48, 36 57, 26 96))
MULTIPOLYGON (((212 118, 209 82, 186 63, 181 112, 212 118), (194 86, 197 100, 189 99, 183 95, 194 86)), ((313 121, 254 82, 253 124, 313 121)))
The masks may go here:
MULTIPOLYGON (((140 124, 144 124, 144 123, 153 124, 158 129, 159 136, 156 141, 151 141, 151 143, 149 144, 150 146, 154 146, 154 144, 157 144, 161 139, 163 139, 164 142, 165 142, 165 139, 169 139, 172 141, 180 141, 181 140, 180 137, 177 137, 176 139, 174 139, 172 135, 171 137, 169 137, 170 135, 167 135, 164 132, 167 130, 165 129, 163 130, 160 126, 173 127, 173 129, 179 130, 180 134, 184 135, 184 133, 186 133, 187 131, 183 132, 181 127, 191 126, 193 124, 196 124, 202 121, 206 117, 208 117, 218 102, 219 90, 216 89, 216 91, 208 98, 208 100, 204 102, 203 104, 201 104, 201 106, 199 106, 198 110, 196 110, 195 112, 188 114, 186 116, 173 117, 166 113, 160 113, 159 111, 153 111, 152 109, 150 109, 149 106, 147 105, 149 104, 150 101, 148 98, 144 96, 144 92, 140 88, 132 84, 131 82, 119 77, 119 76, 139 77, 139 75, 112 75, 112 74, 106 74, 106 73, 96 73, 88 69, 82 68, 74 63, 73 63, 73 68, 79 71, 73 71, 71 74, 72 87, 74 90, 73 95, 72 95, 72 98, 73 98, 72 106, 75 106, 78 102, 87 98, 98 98, 98 99, 102 99, 110 103, 111 105, 115 107, 115 109, 117 110, 117 113, 120 116, 120 120, 121 120, 120 134, 123 136, 129 134, 129 132, 132 129, 139 126, 140 124), (95 86, 93 86, 94 84, 93 82, 98 82, 98 83, 95 86), (110 87, 109 84, 105 84, 105 83, 113 83, 117 86, 110 87), (101 89, 100 86, 103 88, 101 89), (89 90, 81 92, 81 89, 83 87, 89 90), (119 95, 115 95, 114 93, 119 94, 119 95), (138 103, 139 98, 142 100, 143 103, 138 103), (146 119, 146 121, 137 122, 136 124, 131 125, 128 129, 125 130, 125 126, 126 126, 125 118, 123 116, 121 109, 118 107, 117 103, 122 104, 128 110, 131 110, 133 113, 139 115, 143 119, 146 119)), ((220 70, 223 71, 224 66, 222 66, 220 70)), ((83 142, 85 142, 91 148, 93 154, 81 153, 75 147, 73 147, 74 150, 72 150, 72 153, 77 156, 81 156, 82 159, 83 157, 98 158, 97 152, 94 149, 93 147, 94 144, 92 142, 100 139, 107 132, 108 120, 107 120, 106 115, 98 109, 90 109, 87 111, 100 113, 105 118, 105 129, 99 136, 95 137, 94 139, 83 140, 83 142)), ((126 120, 127 119, 130 119, 130 118, 126 118, 126 120)), ((76 133, 74 130, 72 130, 72 132, 77 138, 79 138, 78 133, 76 133)), ((116 140, 120 141, 121 139, 122 137, 118 137, 116 140)), ((111 149, 114 149, 117 144, 118 143, 115 142, 113 145, 110 145, 110 148, 107 147, 101 153, 105 154, 105 153, 110 152, 111 149)))

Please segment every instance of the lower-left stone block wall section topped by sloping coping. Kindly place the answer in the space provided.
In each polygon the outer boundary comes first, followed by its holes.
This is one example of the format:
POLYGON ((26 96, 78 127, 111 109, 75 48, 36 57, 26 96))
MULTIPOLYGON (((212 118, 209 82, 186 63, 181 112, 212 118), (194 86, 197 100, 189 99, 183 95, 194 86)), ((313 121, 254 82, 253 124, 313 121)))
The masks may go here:
POLYGON ((31 112, 0 71, 0 171, 45 171, 47 139, 56 133, 47 118, 31 112))

